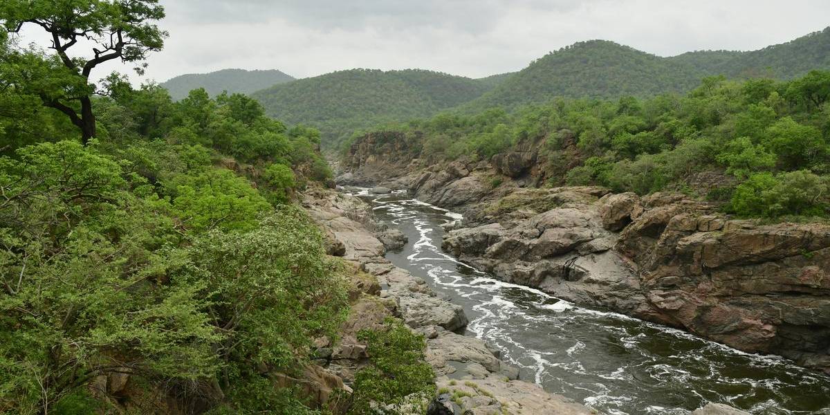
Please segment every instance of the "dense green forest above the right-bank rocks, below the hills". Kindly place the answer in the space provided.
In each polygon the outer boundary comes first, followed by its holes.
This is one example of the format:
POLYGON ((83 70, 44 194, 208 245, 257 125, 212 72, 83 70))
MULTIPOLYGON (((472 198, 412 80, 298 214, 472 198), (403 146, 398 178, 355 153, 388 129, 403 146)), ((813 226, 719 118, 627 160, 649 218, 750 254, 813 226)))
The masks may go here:
POLYGON ((830 215, 830 71, 793 81, 710 77, 688 95, 557 98, 379 130, 406 132, 415 145, 405 157, 432 162, 540 145, 551 186, 672 189, 743 217, 830 215))

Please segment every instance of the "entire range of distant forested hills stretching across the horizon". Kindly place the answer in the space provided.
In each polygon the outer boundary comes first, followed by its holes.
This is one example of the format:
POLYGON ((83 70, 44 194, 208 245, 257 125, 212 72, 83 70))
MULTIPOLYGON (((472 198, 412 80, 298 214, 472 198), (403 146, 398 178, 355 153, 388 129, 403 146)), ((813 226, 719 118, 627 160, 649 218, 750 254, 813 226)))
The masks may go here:
POLYGON ((480 79, 426 70, 354 69, 291 81, 280 71, 226 70, 179 76, 163 85, 177 99, 198 86, 212 95, 222 90, 250 93, 268 115, 319 128, 323 144, 332 147, 355 130, 447 110, 511 110, 557 96, 685 93, 706 76, 785 80, 813 69, 830 69, 830 27, 758 51, 691 51, 669 57, 613 41, 581 41, 542 56, 521 71, 480 79), (255 72, 281 76, 256 77, 255 72), (252 77, 259 88, 251 89, 252 77))

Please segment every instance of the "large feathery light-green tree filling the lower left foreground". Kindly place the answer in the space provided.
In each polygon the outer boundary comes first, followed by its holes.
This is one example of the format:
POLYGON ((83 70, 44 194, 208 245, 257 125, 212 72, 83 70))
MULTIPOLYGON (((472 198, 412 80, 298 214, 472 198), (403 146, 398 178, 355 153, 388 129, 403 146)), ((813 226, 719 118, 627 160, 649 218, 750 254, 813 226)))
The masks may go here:
POLYGON ((169 281, 178 241, 113 160, 74 141, 0 159, 0 403, 48 413, 92 378, 212 375, 203 284, 169 281))

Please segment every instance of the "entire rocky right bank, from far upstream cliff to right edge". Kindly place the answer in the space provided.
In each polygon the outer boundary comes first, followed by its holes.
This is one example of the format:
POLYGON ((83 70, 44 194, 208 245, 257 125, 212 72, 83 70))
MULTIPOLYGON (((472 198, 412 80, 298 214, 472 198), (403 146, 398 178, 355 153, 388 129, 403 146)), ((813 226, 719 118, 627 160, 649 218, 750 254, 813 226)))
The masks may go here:
POLYGON ((403 167, 366 143, 354 150, 352 183, 407 188, 465 213, 443 244, 462 261, 580 305, 830 373, 828 225, 737 220, 677 193, 536 188, 552 172, 532 147, 426 168, 403 167))

